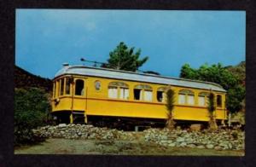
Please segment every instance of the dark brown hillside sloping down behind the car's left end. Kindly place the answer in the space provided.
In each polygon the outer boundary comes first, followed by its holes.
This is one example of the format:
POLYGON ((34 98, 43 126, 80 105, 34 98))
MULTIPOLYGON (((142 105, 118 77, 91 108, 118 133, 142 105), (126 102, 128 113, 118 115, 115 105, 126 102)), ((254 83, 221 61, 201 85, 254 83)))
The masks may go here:
POLYGON ((15 66, 15 88, 36 87, 49 92, 52 90, 52 81, 49 78, 41 78, 30 72, 26 72, 19 66, 15 66))

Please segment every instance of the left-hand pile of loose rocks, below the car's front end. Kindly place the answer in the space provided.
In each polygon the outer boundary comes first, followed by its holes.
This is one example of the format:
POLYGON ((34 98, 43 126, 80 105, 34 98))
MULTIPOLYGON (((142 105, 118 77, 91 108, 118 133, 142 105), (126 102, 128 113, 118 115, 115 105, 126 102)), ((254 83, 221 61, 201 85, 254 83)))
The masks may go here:
POLYGON ((55 137, 66 139, 92 139, 92 140, 135 140, 133 133, 125 133, 121 130, 97 128, 85 124, 59 124, 56 126, 44 126, 33 130, 40 137, 55 137))

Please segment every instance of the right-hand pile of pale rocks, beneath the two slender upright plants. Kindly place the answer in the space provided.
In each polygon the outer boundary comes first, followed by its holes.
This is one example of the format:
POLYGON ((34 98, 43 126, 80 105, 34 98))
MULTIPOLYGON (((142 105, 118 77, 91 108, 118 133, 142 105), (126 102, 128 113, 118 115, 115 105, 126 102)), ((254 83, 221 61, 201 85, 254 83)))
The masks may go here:
POLYGON ((166 147, 197 147, 216 150, 244 149, 244 132, 241 130, 144 130, 145 141, 166 147))

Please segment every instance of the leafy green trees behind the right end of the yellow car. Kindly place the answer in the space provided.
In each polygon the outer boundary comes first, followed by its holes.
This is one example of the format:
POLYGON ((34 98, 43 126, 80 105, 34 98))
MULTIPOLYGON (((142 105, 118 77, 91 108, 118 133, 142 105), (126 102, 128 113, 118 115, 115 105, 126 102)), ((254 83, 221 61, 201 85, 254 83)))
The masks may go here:
POLYGON ((245 98, 245 88, 241 85, 241 78, 244 78, 243 74, 245 65, 241 63, 238 70, 231 72, 231 66, 224 67, 220 63, 217 65, 208 66, 204 64, 199 69, 194 69, 189 64, 184 64, 181 68, 180 77, 195 79, 207 82, 213 82, 220 84, 224 89, 227 90, 227 101, 226 107, 230 112, 239 112, 241 109, 241 101, 245 98))

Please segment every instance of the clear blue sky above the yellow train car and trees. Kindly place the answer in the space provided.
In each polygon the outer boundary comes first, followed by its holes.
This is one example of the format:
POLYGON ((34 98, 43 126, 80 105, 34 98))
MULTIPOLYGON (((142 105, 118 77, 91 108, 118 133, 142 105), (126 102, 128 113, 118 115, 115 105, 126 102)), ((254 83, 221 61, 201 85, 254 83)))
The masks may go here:
POLYGON ((139 70, 169 77, 245 60, 245 11, 16 9, 15 24, 15 65, 44 78, 65 62, 106 62, 120 42, 149 57, 139 70))

